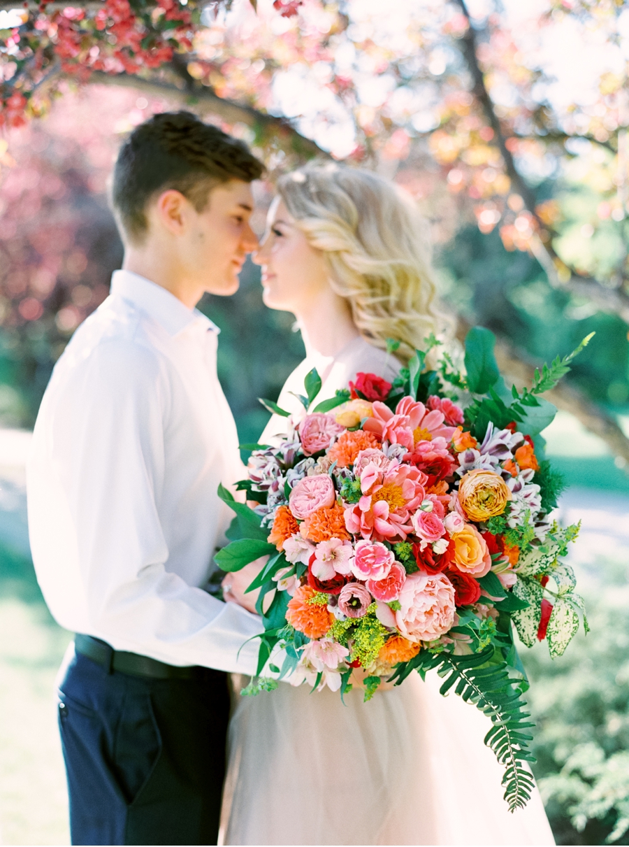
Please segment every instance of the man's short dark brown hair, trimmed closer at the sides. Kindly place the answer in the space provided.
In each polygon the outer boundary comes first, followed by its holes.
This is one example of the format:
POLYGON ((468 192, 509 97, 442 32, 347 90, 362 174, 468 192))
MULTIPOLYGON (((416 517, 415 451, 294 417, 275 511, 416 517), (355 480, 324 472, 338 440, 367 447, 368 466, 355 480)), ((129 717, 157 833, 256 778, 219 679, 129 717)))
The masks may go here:
POLYGON ((181 191, 202 212, 216 185, 251 182, 263 172, 244 141, 190 112, 163 112, 136 127, 120 148, 113 169, 113 209, 130 241, 142 241, 148 229, 146 205, 157 192, 181 191))

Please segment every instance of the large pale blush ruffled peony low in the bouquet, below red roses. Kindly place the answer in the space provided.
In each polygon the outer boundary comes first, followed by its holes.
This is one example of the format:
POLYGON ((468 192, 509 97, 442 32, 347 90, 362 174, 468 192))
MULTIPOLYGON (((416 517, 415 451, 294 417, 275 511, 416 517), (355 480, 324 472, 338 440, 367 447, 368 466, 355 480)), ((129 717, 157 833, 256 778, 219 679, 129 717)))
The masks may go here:
POLYGON ((395 623, 409 641, 434 641, 455 621, 455 590, 443 573, 411 573, 400 590, 395 623))

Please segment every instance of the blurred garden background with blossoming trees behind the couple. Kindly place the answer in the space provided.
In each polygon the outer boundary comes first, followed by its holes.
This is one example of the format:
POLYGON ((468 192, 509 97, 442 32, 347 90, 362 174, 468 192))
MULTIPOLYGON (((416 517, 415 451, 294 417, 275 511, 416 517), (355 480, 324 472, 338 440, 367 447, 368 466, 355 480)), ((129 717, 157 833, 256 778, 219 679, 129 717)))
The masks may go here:
MULTIPOLYGON (((194 3, 178 2, 182 18, 194 3)), ((0 3, 3 843, 69 843, 52 690, 71 636, 47 613, 30 562, 30 429, 54 363, 121 262, 107 201, 119 143, 152 113, 188 108, 268 164, 260 231, 273 175, 313 155, 410 192, 430 224, 445 307, 461 334, 494 330, 510 381, 596 332, 549 393, 560 411, 544 433, 571 486, 559 517, 582 519, 571 558, 592 633, 555 662, 545 645, 521 652, 534 770, 558 844, 629 844, 629 7, 259 0, 256 13, 249 0, 210 3, 179 27, 189 45, 178 36, 171 54, 135 69, 116 47, 116 20, 90 29, 84 7, 51 4, 27 19, 0 3), (74 54, 68 32, 79 33, 74 54), (36 76, 47 59, 33 70, 29 50, 52 57, 48 76, 36 76), (16 92, 24 102, 10 101, 16 92)), ((143 24, 156 38, 161 19, 143 24)), ((234 297, 208 296, 201 309, 222 330, 219 377, 240 439, 257 440, 268 418, 257 397, 277 397, 303 356, 293 318, 262 306, 251 263, 234 297)))

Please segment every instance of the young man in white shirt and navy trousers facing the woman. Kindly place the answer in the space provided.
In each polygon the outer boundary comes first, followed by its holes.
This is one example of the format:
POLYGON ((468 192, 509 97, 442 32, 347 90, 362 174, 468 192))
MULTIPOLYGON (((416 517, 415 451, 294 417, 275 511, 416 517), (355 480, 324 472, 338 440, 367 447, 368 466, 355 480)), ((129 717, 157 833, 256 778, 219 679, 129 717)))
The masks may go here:
POLYGON ((123 269, 41 403, 30 543, 78 633, 58 692, 73 844, 216 844, 224 672, 254 673, 262 626, 203 590, 231 517, 218 484, 242 468, 218 329, 194 307, 237 290, 261 174, 190 113, 134 130, 113 174, 123 269))

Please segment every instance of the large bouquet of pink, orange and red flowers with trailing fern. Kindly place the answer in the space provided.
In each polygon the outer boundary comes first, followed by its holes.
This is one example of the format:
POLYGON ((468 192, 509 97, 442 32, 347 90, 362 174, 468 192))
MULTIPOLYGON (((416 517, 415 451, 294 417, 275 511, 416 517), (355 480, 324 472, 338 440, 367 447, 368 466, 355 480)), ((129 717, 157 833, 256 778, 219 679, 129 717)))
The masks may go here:
MULTIPOLYGON (((566 650, 578 612, 588 630, 561 561, 578 527, 549 519, 562 483, 539 433, 556 409, 538 395, 589 337, 521 392, 507 390, 494 335, 478 327, 466 338, 465 375, 447 353, 425 368, 439 344, 431 336, 393 384, 357 374, 312 408, 321 390, 312 370, 301 415, 262 401, 288 420, 277 446, 246 446, 239 488, 258 505, 219 490, 236 512, 219 567, 269 556, 248 589, 260 589, 265 627, 258 674, 268 667, 343 697, 361 668, 369 700, 382 680, 436 669, 442 694, 455 687, 491 717, 485 742, 506 766, 511 809, 532 787, 521 766, 532 761, 528 684, 511 622, 527 646, 546 639, 551 656, 566 650)), ((275 687, 257 677, 243 693, 275 687)))

